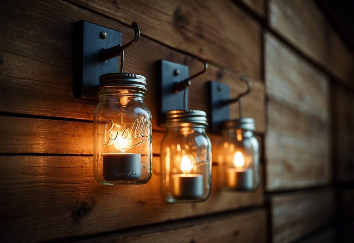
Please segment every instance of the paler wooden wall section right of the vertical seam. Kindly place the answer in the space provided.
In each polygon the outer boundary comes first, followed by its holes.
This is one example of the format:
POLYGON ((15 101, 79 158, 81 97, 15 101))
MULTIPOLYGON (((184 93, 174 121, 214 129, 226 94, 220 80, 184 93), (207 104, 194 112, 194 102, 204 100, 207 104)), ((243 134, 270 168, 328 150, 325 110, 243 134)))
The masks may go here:
POLYGON ((350 211, 354 197, 352 191, 344 196, 337 182, 353 177, 353 52, 313 1, 269 0, 268 11, 264 153, 270 240, 347 242, 342 236, 354 228, 338 226, 338 207, 350 211))

